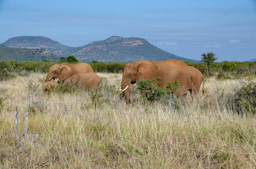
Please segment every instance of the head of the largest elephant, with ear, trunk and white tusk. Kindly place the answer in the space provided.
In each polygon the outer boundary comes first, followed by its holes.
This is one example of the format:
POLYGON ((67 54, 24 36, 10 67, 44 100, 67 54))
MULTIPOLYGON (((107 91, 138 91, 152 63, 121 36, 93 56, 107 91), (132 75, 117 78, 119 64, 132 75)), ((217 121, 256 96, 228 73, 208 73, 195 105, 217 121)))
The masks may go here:
POLYGON ((138 60, 125 65, 122 77, 122 91, 126 103, 130 102, 133 90, 132 84, 137 83, 140 79, 149 79, 156 76, 157 66, 151 61, 138 60))

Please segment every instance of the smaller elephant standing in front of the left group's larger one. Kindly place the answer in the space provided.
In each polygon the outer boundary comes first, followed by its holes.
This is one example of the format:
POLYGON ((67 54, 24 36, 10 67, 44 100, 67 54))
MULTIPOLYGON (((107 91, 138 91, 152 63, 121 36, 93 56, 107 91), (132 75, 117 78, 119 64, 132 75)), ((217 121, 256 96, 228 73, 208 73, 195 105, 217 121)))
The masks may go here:
POLYGON ((96 88, 101 84, 101 78, 96 73, 77 73, 67 78, 64 83, 71 86, 78 84, 84 86, 87 89, 96 88))

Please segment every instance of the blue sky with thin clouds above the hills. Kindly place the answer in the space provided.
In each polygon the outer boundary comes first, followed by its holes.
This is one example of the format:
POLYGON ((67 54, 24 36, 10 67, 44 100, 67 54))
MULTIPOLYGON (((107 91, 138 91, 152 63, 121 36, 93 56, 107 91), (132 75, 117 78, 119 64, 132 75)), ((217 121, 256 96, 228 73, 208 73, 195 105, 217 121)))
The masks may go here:
POLYGON ((246 61, 256 58, 256 0, 0 0, 0 34, 0 43, 41 35, 72 47, 139 37, 189 59, 246 61))

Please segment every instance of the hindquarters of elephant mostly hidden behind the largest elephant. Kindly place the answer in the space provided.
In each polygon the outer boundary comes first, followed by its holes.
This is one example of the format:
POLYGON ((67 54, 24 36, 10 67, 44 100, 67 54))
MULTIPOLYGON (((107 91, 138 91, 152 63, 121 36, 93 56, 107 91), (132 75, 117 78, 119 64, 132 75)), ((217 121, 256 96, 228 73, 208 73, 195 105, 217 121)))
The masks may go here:
MULTIPOLYGON (((203 77, 203 74, 200 72, 200 70, 198 70, 197 68, 194 68, 193 66, 188 66, 188 68, 190 70, 190 73, 192 74, 191 89, 189 91, 190 94, 197 95, 202 83, 204 86, 205 78, 203 77)), ((204 93, 203 87, 202 92, 204 93)))

